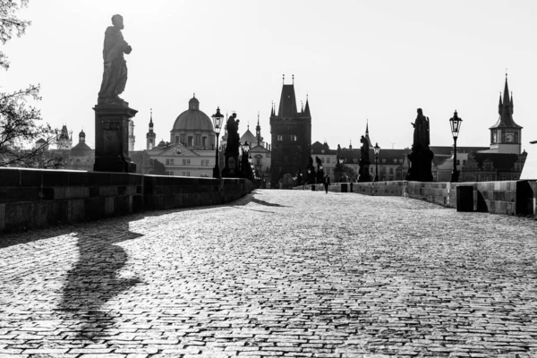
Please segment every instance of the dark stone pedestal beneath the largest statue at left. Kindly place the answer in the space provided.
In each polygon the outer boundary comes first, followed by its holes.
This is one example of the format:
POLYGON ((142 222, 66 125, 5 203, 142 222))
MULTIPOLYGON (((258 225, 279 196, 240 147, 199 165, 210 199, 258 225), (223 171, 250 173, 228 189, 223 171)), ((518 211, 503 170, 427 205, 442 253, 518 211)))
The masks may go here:
POLYGON ((95 111, 96 172, 135 173, 129 158, 129 119, 138 111, 121 105, 97 105, 95 111))

